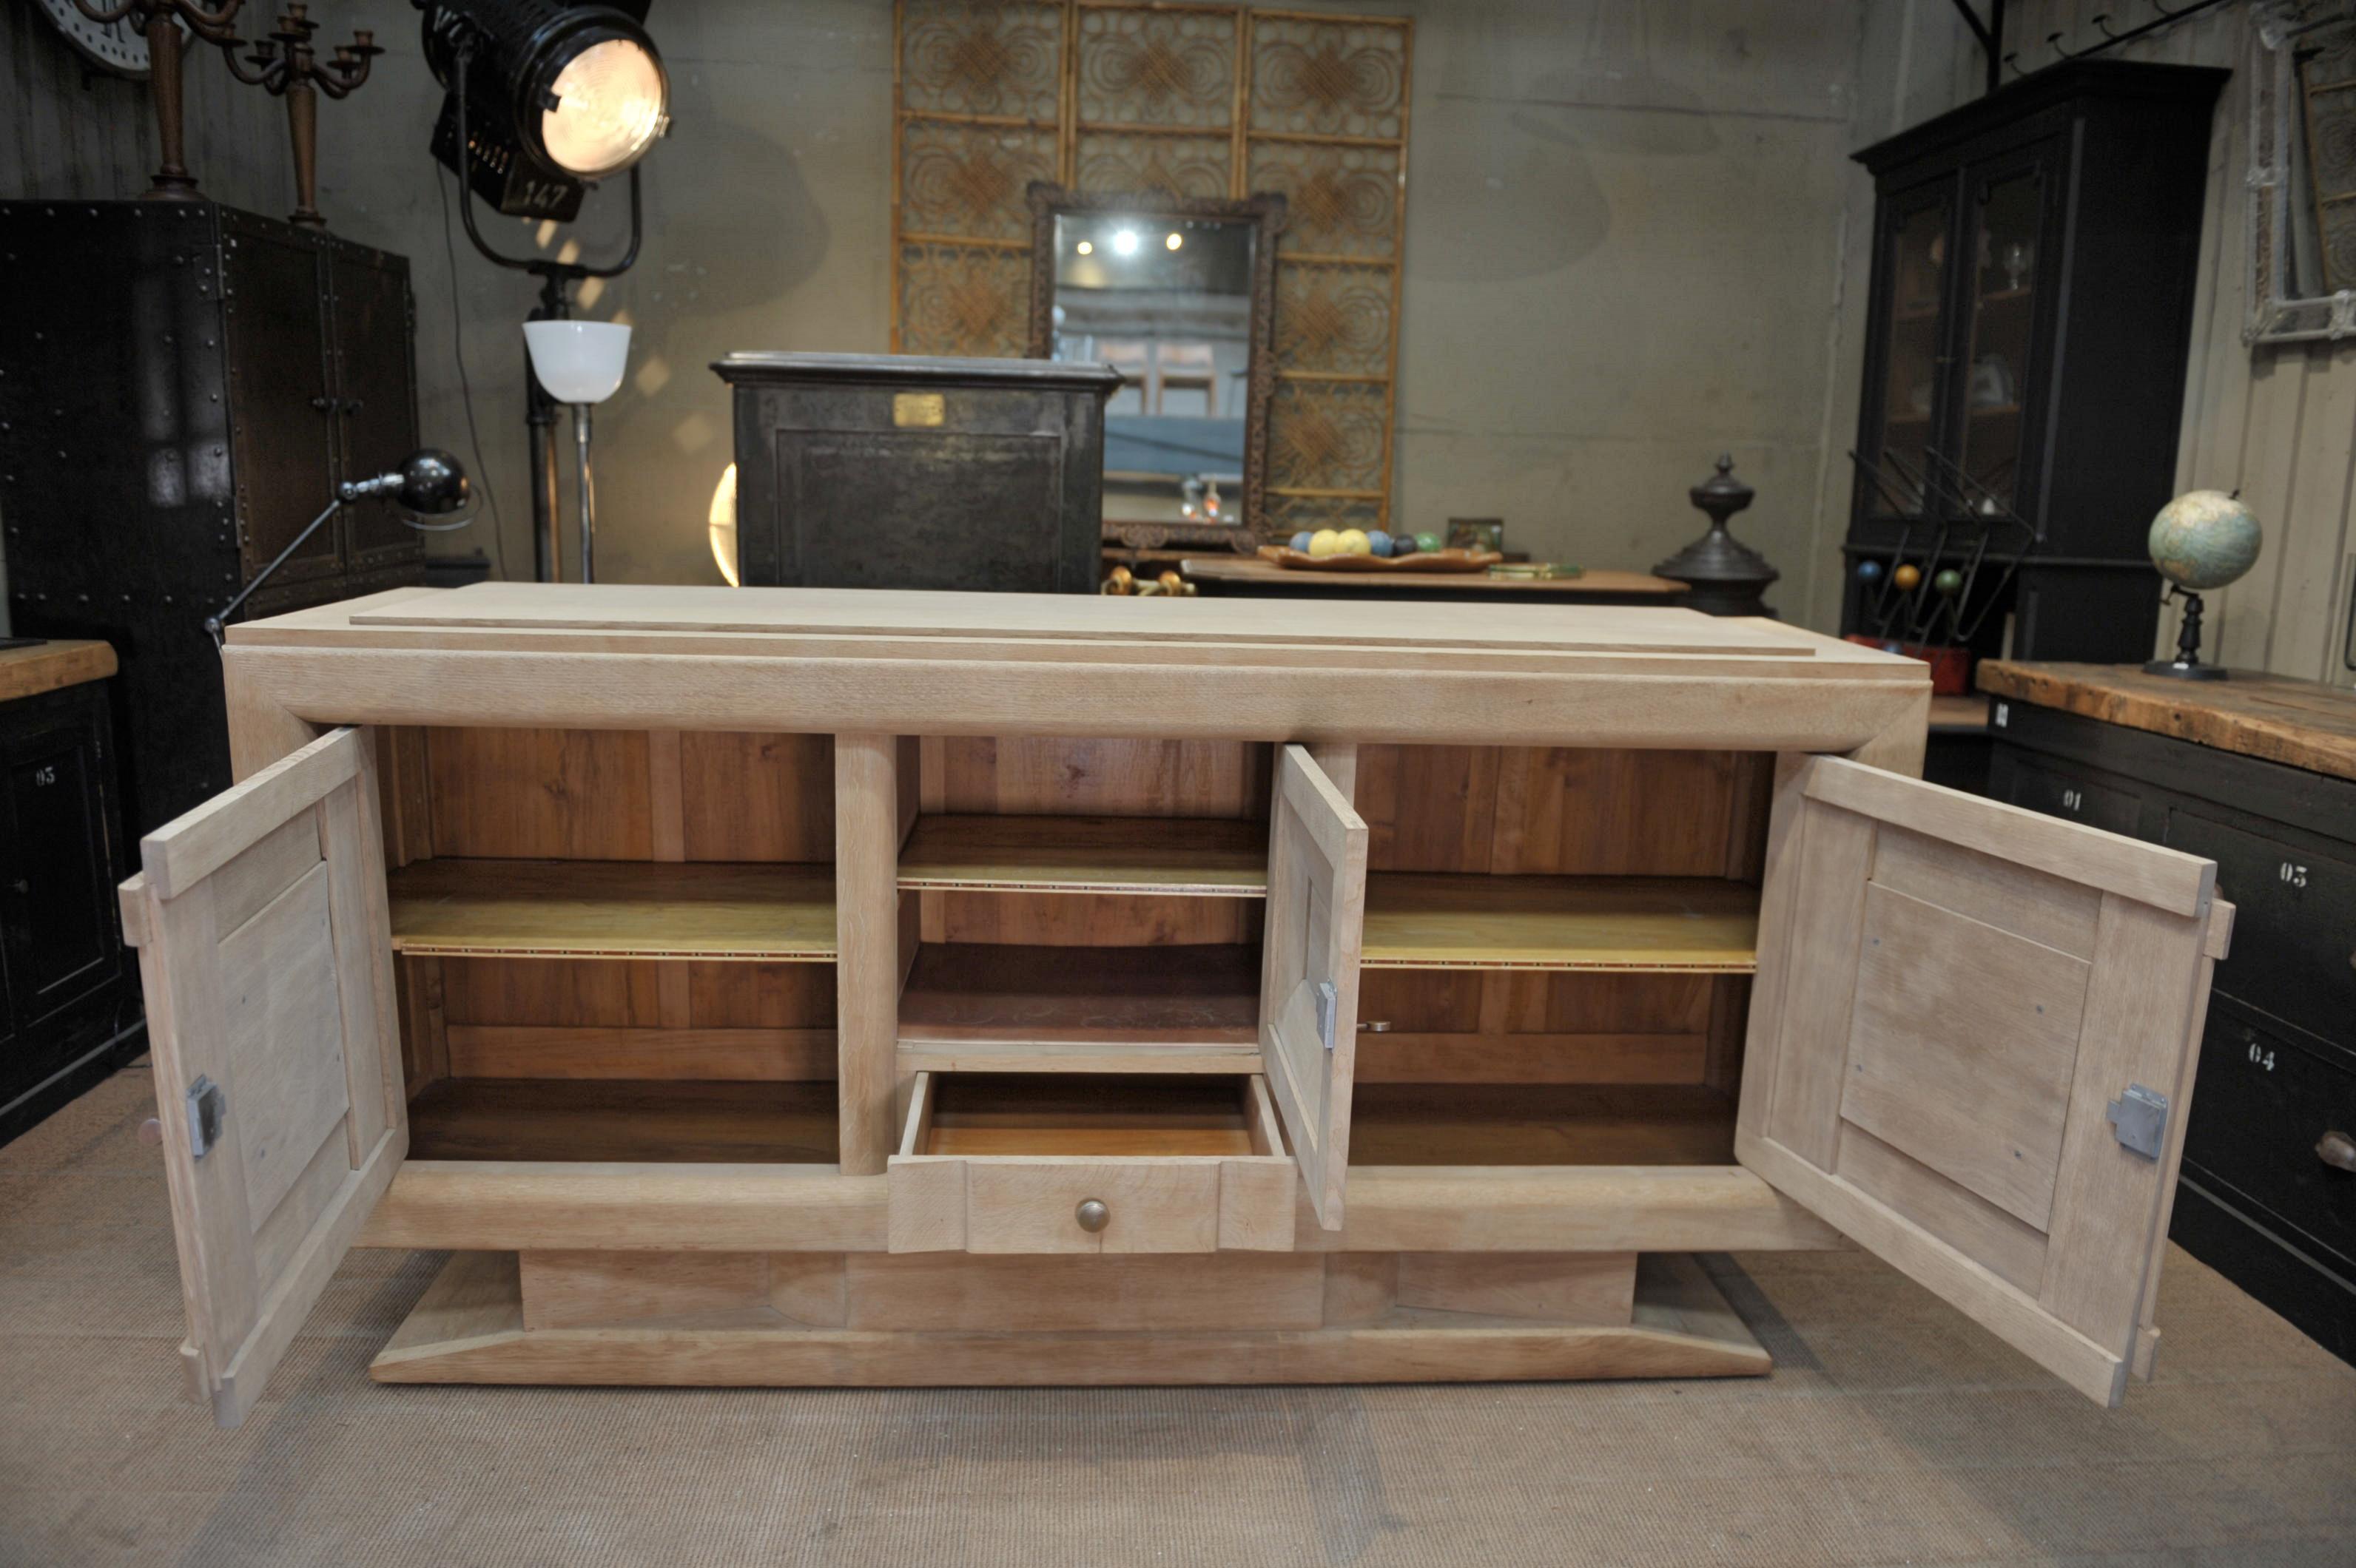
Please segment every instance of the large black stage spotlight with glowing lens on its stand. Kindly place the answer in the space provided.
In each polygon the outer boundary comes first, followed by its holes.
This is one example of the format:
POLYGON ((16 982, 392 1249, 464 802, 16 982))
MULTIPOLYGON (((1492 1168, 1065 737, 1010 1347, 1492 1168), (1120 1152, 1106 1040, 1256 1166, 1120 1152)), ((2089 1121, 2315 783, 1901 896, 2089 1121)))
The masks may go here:
MULTIPOLYGON (((415 0, 424 54, 443 85, 434 155, 459 177, 466 238, 490 261, 540 278, 530 320, 568 320, 587 278, 617 278, 638 259, 638 160, 671 125, 671 80, 646 31, 648 0, 415 0), (629 172, 629 250, 610 266, 507 257, 474 219, 483 198, 507 217, 573 221, 589 184, 629 172)), ((556 582, 556 396, 525 363, 532 440, 532 563, 556 582)), ((610 388, 608 388, 610 391, 610 388)), ((589 579, 589 412, 575 400, 582 466, 582 582, 589 579)))

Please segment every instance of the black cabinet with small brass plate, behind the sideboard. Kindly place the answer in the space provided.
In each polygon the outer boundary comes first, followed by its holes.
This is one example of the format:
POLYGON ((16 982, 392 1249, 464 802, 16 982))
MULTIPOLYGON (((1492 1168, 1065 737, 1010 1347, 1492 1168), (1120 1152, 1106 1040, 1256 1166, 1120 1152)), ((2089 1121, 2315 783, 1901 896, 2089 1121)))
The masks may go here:
POLYGON ((1110 365, 733 353, 737 574, 1093 593, 1110 365))

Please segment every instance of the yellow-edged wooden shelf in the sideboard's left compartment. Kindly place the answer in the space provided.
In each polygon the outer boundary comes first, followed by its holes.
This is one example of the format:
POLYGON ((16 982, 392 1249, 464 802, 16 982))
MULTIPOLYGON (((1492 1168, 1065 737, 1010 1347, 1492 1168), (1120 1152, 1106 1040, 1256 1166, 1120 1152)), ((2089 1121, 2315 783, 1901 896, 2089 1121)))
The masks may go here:
POLYGON ((422 859, 386 883, 396 954, 834 963, 832 866, 422 859))

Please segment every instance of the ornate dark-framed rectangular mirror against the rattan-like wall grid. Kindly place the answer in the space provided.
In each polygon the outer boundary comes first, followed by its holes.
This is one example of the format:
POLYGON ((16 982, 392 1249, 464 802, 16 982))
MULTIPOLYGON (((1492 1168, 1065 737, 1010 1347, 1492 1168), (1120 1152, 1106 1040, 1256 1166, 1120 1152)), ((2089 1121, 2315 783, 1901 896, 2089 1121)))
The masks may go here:
POLYGON ((1030 358, 1121 372, 1105 405, 1105 537, 1251 551, 1284 198, 1032 184, 1030 210, 1030 358))

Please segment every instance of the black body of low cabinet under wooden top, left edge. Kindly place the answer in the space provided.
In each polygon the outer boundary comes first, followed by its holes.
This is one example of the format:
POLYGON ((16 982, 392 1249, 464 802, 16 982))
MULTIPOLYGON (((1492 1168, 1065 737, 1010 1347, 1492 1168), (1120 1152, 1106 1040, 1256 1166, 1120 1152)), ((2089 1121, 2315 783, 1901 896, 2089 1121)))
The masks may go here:
POLYGON ((118 1067, 120 876, 106 687, 0 704, 0 1142, 118 1067))

